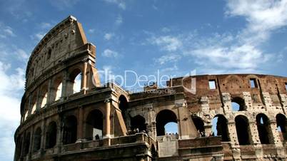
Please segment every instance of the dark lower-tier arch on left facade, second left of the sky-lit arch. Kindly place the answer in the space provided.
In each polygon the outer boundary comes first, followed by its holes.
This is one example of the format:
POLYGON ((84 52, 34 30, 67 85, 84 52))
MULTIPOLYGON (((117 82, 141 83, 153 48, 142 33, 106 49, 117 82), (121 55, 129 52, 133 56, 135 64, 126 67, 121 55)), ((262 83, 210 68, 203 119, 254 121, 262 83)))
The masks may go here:
POLYGON ((57 125, 54 121, 49 123, 46 132, 46 148, 51 148, 56 145, 57 125))

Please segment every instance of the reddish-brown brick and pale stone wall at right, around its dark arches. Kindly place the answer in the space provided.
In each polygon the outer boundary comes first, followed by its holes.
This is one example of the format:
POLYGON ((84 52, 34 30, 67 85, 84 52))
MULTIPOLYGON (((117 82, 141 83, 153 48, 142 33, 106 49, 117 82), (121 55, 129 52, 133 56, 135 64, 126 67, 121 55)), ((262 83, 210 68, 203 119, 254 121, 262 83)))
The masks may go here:
MULTIPOLYGON (((223 143, 226 160, 228 153, 233 159, 286 157, 286 140, 283 139, 281 132, 278 132, 278 123, 276 122, 278 114, 282 114, 286 118, 286 77, 229 74, 193 76, 192 78, 196 78, 196 93, 184 90, 191 115, 198 116, 203 120, 208 135, 212 133, 212 120, 216 116, 223 115, 228 122, 227 130, 230 142, 223 143), (209 81, 215 82, 215 89, 209 87, 209 81), (254 81, 254 87, 251 86, 251 81, 254 81), (238 99, 242 100, 242 109, 232 110, 232 102, 236 102, 238 99), (256 122, 256 116, 259 114, 266 115, 268 118, 270 130, 263 135, 270 137, 270 144, 261 143, 259 136, 261 134, 256 122), (238 115, 248 119, 250 145, 240 145, 238 142, 235 122, 238 115)), ((168 81, 168 85, 183 85, 186 88, 191 88, 191 77, 174 78, 168 81)))

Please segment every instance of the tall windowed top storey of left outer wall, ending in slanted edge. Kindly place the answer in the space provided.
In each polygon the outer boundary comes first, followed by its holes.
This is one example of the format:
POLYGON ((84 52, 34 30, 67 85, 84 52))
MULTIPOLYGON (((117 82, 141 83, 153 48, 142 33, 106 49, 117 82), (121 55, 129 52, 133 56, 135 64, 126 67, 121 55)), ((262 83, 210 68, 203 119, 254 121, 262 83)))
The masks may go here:
POLYGON ((36 45, 26 68, 26 88, 45 71, 51 69, 88 43, 81 24, 68 16, 54 26, 36 45))

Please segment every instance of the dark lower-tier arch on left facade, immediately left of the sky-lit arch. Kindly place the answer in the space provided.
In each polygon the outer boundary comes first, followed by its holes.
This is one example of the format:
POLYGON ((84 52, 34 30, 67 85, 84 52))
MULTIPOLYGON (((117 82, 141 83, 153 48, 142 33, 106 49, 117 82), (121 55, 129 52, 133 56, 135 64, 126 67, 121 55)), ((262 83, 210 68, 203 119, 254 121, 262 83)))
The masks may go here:
POLYGON ((63 144, 72 144, 76 142, 77 120, 74 115, 70 115, 64 119, 63 127, 63 144))

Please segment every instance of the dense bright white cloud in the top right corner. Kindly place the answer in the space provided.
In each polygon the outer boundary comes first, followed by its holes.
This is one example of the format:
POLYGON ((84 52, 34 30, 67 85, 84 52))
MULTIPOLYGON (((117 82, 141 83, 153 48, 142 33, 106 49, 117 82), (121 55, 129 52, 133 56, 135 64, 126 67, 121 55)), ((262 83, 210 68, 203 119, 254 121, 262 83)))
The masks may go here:
POLYGON ((248 22, 240 35, 247 43, 266 41, 278 28, 287 24, 287 0, 227 1, 228 16, 243 16, 248 22))

